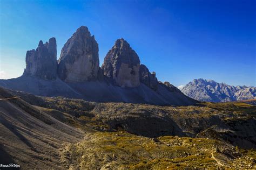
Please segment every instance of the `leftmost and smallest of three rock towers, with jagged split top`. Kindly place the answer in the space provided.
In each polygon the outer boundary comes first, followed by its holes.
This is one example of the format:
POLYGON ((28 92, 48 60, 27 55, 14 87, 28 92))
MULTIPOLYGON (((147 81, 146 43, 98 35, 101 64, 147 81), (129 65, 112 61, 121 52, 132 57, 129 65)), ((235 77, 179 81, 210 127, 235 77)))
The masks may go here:
POLYGON ((35 76, 45 80, 57 77, 56 39, 50 38, 49 43, 39 41, 38 47, 26 52, 26 68, 23 75, 35 76))

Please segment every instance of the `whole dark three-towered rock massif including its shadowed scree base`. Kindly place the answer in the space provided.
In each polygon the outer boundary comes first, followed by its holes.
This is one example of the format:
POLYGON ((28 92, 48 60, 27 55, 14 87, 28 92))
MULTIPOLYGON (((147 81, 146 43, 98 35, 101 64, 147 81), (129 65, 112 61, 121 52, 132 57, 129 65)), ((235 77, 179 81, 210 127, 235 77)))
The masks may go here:
POLYGON ((116 40, 99 67, 98 44, 88 28, 79 27, 56 59, 56 40, 51 38, 26 53, 24 74, 0 80, 0 86, 40 96, 82 98, 94 102, 127 102, 156 105, 196 103, 169 82, 140 64, 137 53, 123 38, 116 40))

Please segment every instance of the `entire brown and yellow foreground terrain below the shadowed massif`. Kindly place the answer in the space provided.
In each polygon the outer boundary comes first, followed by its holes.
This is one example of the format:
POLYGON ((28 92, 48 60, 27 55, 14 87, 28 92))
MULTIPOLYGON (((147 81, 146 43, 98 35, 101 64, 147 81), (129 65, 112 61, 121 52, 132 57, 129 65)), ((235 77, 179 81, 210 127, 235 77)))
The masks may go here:
POLYGON ((255 105, 95 103, 2 88, 0 99, 1 164, 15 162, 22 169, 256 168, 255 105))

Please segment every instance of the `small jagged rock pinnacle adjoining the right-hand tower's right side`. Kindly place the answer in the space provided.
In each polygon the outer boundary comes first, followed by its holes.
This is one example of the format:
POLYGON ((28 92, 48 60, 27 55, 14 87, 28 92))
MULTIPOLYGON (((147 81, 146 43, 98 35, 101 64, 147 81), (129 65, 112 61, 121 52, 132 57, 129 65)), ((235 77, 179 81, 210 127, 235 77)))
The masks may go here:
POLYGON ((140 65, 139 67, 139 80, 147 87, 150 87, 153 90, 157 90, 158 81, 156 73, 152 72, 151 74, 145 65, 140 65))

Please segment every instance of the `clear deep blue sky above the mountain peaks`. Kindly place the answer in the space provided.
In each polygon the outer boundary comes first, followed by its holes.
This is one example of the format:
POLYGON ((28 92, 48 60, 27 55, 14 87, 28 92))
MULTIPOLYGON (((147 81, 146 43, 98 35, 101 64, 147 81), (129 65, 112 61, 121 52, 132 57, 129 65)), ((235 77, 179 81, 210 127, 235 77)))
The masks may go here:
POLYGON ((256 86, 256 1, 0 0, 0 75, 22 75, 26 51, 57 39, 60 50, 76 29, 89 27, 100 65, 123 37, 158 80, 193 79, 256 86))

